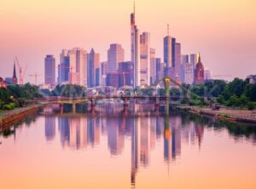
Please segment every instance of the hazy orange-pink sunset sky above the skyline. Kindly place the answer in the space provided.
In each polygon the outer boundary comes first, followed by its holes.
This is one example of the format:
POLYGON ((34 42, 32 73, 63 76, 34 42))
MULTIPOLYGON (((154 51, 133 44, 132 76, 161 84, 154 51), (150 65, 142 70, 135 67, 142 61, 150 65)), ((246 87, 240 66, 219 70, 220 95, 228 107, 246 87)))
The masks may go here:
MULTIPOLYGON (((132 0, 1 0, 0 76, 12 75, 13 59, 27 74, 44 74, 45 54, 59 62, 61 49, 96 49, 107 60, 110 43, 121 43, 130 60, 132 0)), ((151 33, 152 48, 163 56, 166 24, 182 43, 182 53, 201 52, 212 75, 256 73, 256 1, 137 0, 137 26, 151 33)), ((43 81, 44 77, 40 78, 43 81)), ((225 77, 230 79, 230 77, 225 77)), ((25 81, 33 82, 30 77, 25 81)))

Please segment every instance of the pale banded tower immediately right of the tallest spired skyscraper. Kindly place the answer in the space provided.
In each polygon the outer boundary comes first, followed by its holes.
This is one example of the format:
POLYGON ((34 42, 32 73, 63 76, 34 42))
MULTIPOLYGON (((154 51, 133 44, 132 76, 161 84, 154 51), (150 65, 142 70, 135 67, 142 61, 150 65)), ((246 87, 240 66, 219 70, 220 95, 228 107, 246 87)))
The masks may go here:
POLYGON ((140 85, 150 85, 150 34, 143 32, 140 36, 140 85))

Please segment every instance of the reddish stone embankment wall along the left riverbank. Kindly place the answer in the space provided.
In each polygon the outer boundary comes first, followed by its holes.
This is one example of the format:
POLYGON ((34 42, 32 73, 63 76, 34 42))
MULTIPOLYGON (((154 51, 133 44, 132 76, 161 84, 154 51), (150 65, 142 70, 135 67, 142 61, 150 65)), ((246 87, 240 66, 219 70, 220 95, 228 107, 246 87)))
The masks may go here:
POLYGON ((32 105, 32 106, 16 108, 15 110, 12 110, 9 112, 0 113, 0 127, 9 125, 12 123, 17 123, 23 118, 25 118, 26 116, 31 115, 32 113, 38 112, 38 110, 42 106, 43 105, 32 105))

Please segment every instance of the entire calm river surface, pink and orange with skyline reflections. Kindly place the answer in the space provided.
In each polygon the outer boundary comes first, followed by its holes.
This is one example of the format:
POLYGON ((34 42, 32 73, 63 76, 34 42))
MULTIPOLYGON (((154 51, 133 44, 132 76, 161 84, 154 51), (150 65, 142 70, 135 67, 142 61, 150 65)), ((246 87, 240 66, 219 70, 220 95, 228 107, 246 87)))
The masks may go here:
POLYGON ((256 188, 256 127, 46 108, 0 134, 0 188, 256 188))

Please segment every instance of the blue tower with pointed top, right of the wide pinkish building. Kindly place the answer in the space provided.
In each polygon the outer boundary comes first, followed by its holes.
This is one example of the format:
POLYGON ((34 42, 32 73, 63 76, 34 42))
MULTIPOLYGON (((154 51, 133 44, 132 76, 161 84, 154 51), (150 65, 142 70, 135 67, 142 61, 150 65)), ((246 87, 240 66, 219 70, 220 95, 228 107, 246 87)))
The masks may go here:
POLYGON ((100 54, 96 54, 94 49, 91 49, 90 54, 88 54, 87 66, 88 87, 98 86, 100 74, 97 69, 100 68, 100 54))

